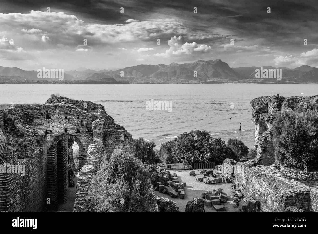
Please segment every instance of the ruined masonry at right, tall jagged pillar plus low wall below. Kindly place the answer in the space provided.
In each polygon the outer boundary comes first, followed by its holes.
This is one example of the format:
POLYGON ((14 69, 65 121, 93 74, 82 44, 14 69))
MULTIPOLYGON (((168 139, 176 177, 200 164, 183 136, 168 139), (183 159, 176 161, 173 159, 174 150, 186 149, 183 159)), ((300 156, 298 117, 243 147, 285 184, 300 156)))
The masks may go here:
POLYGON ((266 96, 251 101, 252 121, 255 123, 257 156, 247 162, 226 159, 222 174, 234 179, 234 184, 247 198, 261 202, 260 209, 277 211, 295 206, 305 211, 318 212, 318 189, 294 181, 317 180, 317 172, 302 172, 286 168, 275 162, 272 144, 272 123, 281 110, 294 109, 303 103, 318 104, 318 95, 309 97, 266 96))

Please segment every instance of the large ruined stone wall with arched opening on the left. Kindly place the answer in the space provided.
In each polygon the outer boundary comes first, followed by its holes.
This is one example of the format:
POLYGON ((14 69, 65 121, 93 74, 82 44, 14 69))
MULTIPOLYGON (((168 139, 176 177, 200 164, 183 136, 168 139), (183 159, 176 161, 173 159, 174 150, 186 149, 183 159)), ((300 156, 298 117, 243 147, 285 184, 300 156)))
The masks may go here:
POLYGON ((87 191, 100 157, 117 146, 131 151, 131 134, 89 101, 54 97, 1 110, 0 164, 25 165, 25 175, 0 174, 0 212, 56 210, 65 202, 75 141, 80 172, 74 211, 88 211, 87 191))

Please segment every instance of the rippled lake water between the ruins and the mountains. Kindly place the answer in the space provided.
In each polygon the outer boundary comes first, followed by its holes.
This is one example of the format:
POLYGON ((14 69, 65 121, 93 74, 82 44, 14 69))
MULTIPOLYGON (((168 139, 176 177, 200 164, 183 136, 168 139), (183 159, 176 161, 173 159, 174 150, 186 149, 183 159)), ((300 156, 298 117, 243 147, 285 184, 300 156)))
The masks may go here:
POLYGON ((191 130, 213 137, 238 138, 254 145, 250 101, 260 96, 310 96, 317 84, 130 84, 130 85, 0 85, 0 104, 45 103, 52 93, 92 101, 133 138, 160 144, 191 130), (148 110, 147 101, 172 102, 172 111, 148 110), (231 105, 232 103, 232 105, 231 105), (233 107, 233 108, 231 108, 233 107), (231 117, 231 120, 230 120, 231 117), (239 131, 241 122, 242 131, 239 131))

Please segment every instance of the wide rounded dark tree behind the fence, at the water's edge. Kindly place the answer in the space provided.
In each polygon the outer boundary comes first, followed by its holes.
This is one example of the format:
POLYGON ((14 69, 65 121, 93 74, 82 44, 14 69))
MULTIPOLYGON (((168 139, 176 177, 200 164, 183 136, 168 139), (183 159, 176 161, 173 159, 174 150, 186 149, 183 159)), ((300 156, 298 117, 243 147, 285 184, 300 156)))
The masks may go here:
POLYGON ((172 147, 175 162, 215 162, 221 163, 226 158, 239 160, 232 149, 221 138, 213 138, 203 130, 183 133, 175 139, 172 147))

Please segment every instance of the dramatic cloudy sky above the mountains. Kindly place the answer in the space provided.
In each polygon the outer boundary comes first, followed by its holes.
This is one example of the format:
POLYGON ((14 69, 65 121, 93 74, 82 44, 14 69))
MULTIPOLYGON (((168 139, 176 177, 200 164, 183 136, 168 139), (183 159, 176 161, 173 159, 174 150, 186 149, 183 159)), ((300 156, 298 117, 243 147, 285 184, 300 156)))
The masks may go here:
POLYGON ((101 70, 222 59, 231 67, 318 67, 317 9, 315 0, 1 0, 0 66, 101 70))

